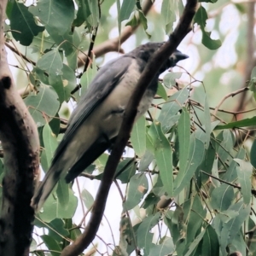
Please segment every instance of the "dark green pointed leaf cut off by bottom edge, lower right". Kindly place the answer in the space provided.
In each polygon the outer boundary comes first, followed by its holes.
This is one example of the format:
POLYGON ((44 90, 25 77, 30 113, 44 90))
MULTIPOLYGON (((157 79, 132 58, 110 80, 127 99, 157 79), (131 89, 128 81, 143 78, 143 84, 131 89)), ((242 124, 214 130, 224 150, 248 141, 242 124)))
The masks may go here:
POLYGON ((205 235, 203 236, 201 255, 219 255, 218 236, 211 225, 207 225, 205 235))

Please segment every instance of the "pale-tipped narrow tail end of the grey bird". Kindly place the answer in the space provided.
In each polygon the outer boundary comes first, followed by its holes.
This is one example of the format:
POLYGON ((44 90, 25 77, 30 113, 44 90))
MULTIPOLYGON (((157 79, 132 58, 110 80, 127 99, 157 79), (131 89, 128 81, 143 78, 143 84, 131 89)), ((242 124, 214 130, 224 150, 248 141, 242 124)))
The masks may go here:
POLYGON ((35 212, 38 212, 44 205, 44 202, 48 198, 51 191, 55 188, 55 184, 61 177, 61 171, 55 170, 55 166, 51 166, 48 172, 46 172, 44 180, 39 184, 32 197, 32 207, 35 212))

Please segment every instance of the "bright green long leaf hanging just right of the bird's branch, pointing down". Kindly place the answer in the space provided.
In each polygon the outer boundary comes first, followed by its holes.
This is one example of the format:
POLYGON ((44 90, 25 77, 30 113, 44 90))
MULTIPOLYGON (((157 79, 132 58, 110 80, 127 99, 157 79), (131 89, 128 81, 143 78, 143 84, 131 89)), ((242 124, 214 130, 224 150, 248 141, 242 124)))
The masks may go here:
POLYGON ((148 135, 153 140, 154 156, 164 188, 167 195, 172 196, 172 148, 161 130, 160 123, 153 123, 148 130, 148 135))

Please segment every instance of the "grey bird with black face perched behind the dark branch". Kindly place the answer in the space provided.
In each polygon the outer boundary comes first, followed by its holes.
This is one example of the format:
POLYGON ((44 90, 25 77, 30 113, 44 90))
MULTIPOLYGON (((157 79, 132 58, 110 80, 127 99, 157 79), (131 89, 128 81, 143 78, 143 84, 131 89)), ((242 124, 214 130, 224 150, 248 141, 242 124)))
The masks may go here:
MULTIPOLYGON (((142 44, 131 52, 108 61, 99 69, 71 114, 49 171, 35 190, 32 207, 36 212, 43 207, 44 201, 61 177, 65 177, 66 182, 70 183, 111 148, 137 81, 150 57, 163 44, 165 42, 142 44)), ((188 57, 176 49, 163 63, 139 103, 136 119, 148 110, 153 101, 160 73, 175 67, 178 61, 188 57)))

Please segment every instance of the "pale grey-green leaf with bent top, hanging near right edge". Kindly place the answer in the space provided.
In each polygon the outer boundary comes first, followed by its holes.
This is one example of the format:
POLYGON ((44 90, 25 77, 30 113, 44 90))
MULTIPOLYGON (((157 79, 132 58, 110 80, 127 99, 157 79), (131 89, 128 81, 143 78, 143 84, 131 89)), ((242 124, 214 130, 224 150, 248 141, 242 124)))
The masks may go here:
POLYGON ((239 166, 236 166, 236 172, 238 177, 238 182, 241 186, 241 195, 243 197, 243 202, 245 204, 249 204, 251 201, 251 178, 253 174, 253 166, 241 159, 234 159, 239 166))

